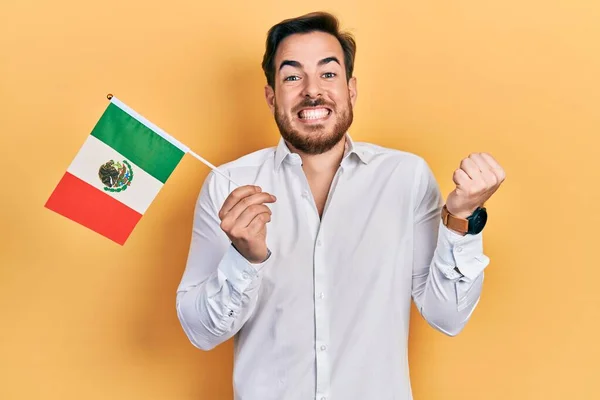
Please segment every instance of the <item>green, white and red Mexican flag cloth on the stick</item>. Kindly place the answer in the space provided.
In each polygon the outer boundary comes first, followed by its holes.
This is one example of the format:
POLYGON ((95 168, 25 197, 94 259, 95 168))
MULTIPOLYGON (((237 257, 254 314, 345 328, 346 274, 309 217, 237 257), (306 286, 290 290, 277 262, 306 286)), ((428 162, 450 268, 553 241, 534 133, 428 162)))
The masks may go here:
POLYGON ((112 97, 45 207, 123 245, 188 151, 112 97))

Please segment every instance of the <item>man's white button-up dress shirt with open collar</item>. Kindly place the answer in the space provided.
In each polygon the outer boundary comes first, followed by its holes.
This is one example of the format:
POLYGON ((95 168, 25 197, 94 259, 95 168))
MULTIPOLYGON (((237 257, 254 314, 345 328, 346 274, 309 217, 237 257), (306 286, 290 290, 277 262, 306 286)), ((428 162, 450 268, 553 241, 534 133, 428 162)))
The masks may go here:
POLYGON ((198 197, 177 314, 194 346, 235 336, 236 400, 409 400, 411 299, 456 335, 479 301, 482 234, 441 223, 443 199, 422 158, 346 135, 319 218, 302 160, 283 140, 220 169, 274 194, 271 251, 252 264, 218 212, 235 186, 211 172, 198 197), (455 267, 460 271, 457 272, 455 267))

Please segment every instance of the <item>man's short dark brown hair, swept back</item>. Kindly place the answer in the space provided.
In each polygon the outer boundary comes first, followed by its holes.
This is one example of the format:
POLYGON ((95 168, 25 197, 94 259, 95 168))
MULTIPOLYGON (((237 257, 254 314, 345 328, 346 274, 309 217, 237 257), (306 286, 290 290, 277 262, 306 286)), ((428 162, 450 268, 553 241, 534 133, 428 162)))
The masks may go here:
POLYGON ((340 31, 338 19, 326 12, 314 12, 300 17, 281 21, 269 29, 267 34, 266 49, 263 56, 262 68, 267 78, 267 83, 275 87, 275 53, 279 44, 286 37, 296 33, 325 32, 335 36, 344 51, 344 65, 346 66, 346 79, 352 77, 354 71, 354 57, 356 55, 356 41, 348 32, 340 31))

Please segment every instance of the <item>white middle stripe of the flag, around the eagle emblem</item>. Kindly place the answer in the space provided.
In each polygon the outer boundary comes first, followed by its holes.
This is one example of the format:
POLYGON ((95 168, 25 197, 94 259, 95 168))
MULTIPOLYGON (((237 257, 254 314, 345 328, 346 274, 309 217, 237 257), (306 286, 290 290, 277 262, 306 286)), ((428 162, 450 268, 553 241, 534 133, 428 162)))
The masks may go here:
POLYGON ((106 143, 90 135, 71 162, 69 168, 67 168, 67 171, 94 186, 102 193, 114 197, 140 214, 144 214, 163 187, 163 183, 130 160, 127 160, 133 170, 133 179, 129 187, 122 192, 106 191, 104 190, 104 184, 100 180, 98 171, 104 163, 110 160, 123 163, 123 160, 126 160, 126 158, 106 143))

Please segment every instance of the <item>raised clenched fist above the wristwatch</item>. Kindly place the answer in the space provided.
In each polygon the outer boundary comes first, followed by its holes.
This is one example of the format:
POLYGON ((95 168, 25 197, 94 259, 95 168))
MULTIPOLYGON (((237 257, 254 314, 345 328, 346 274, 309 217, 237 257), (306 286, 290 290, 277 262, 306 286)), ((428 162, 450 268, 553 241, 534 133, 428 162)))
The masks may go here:
POLYGON ((448 195, 448 211, 460 218, 467 218, 483 206, 498 190, 506 175, 504 170, 488 153, 473 153, 462 160, 452 179, 456 189, 448 195))

